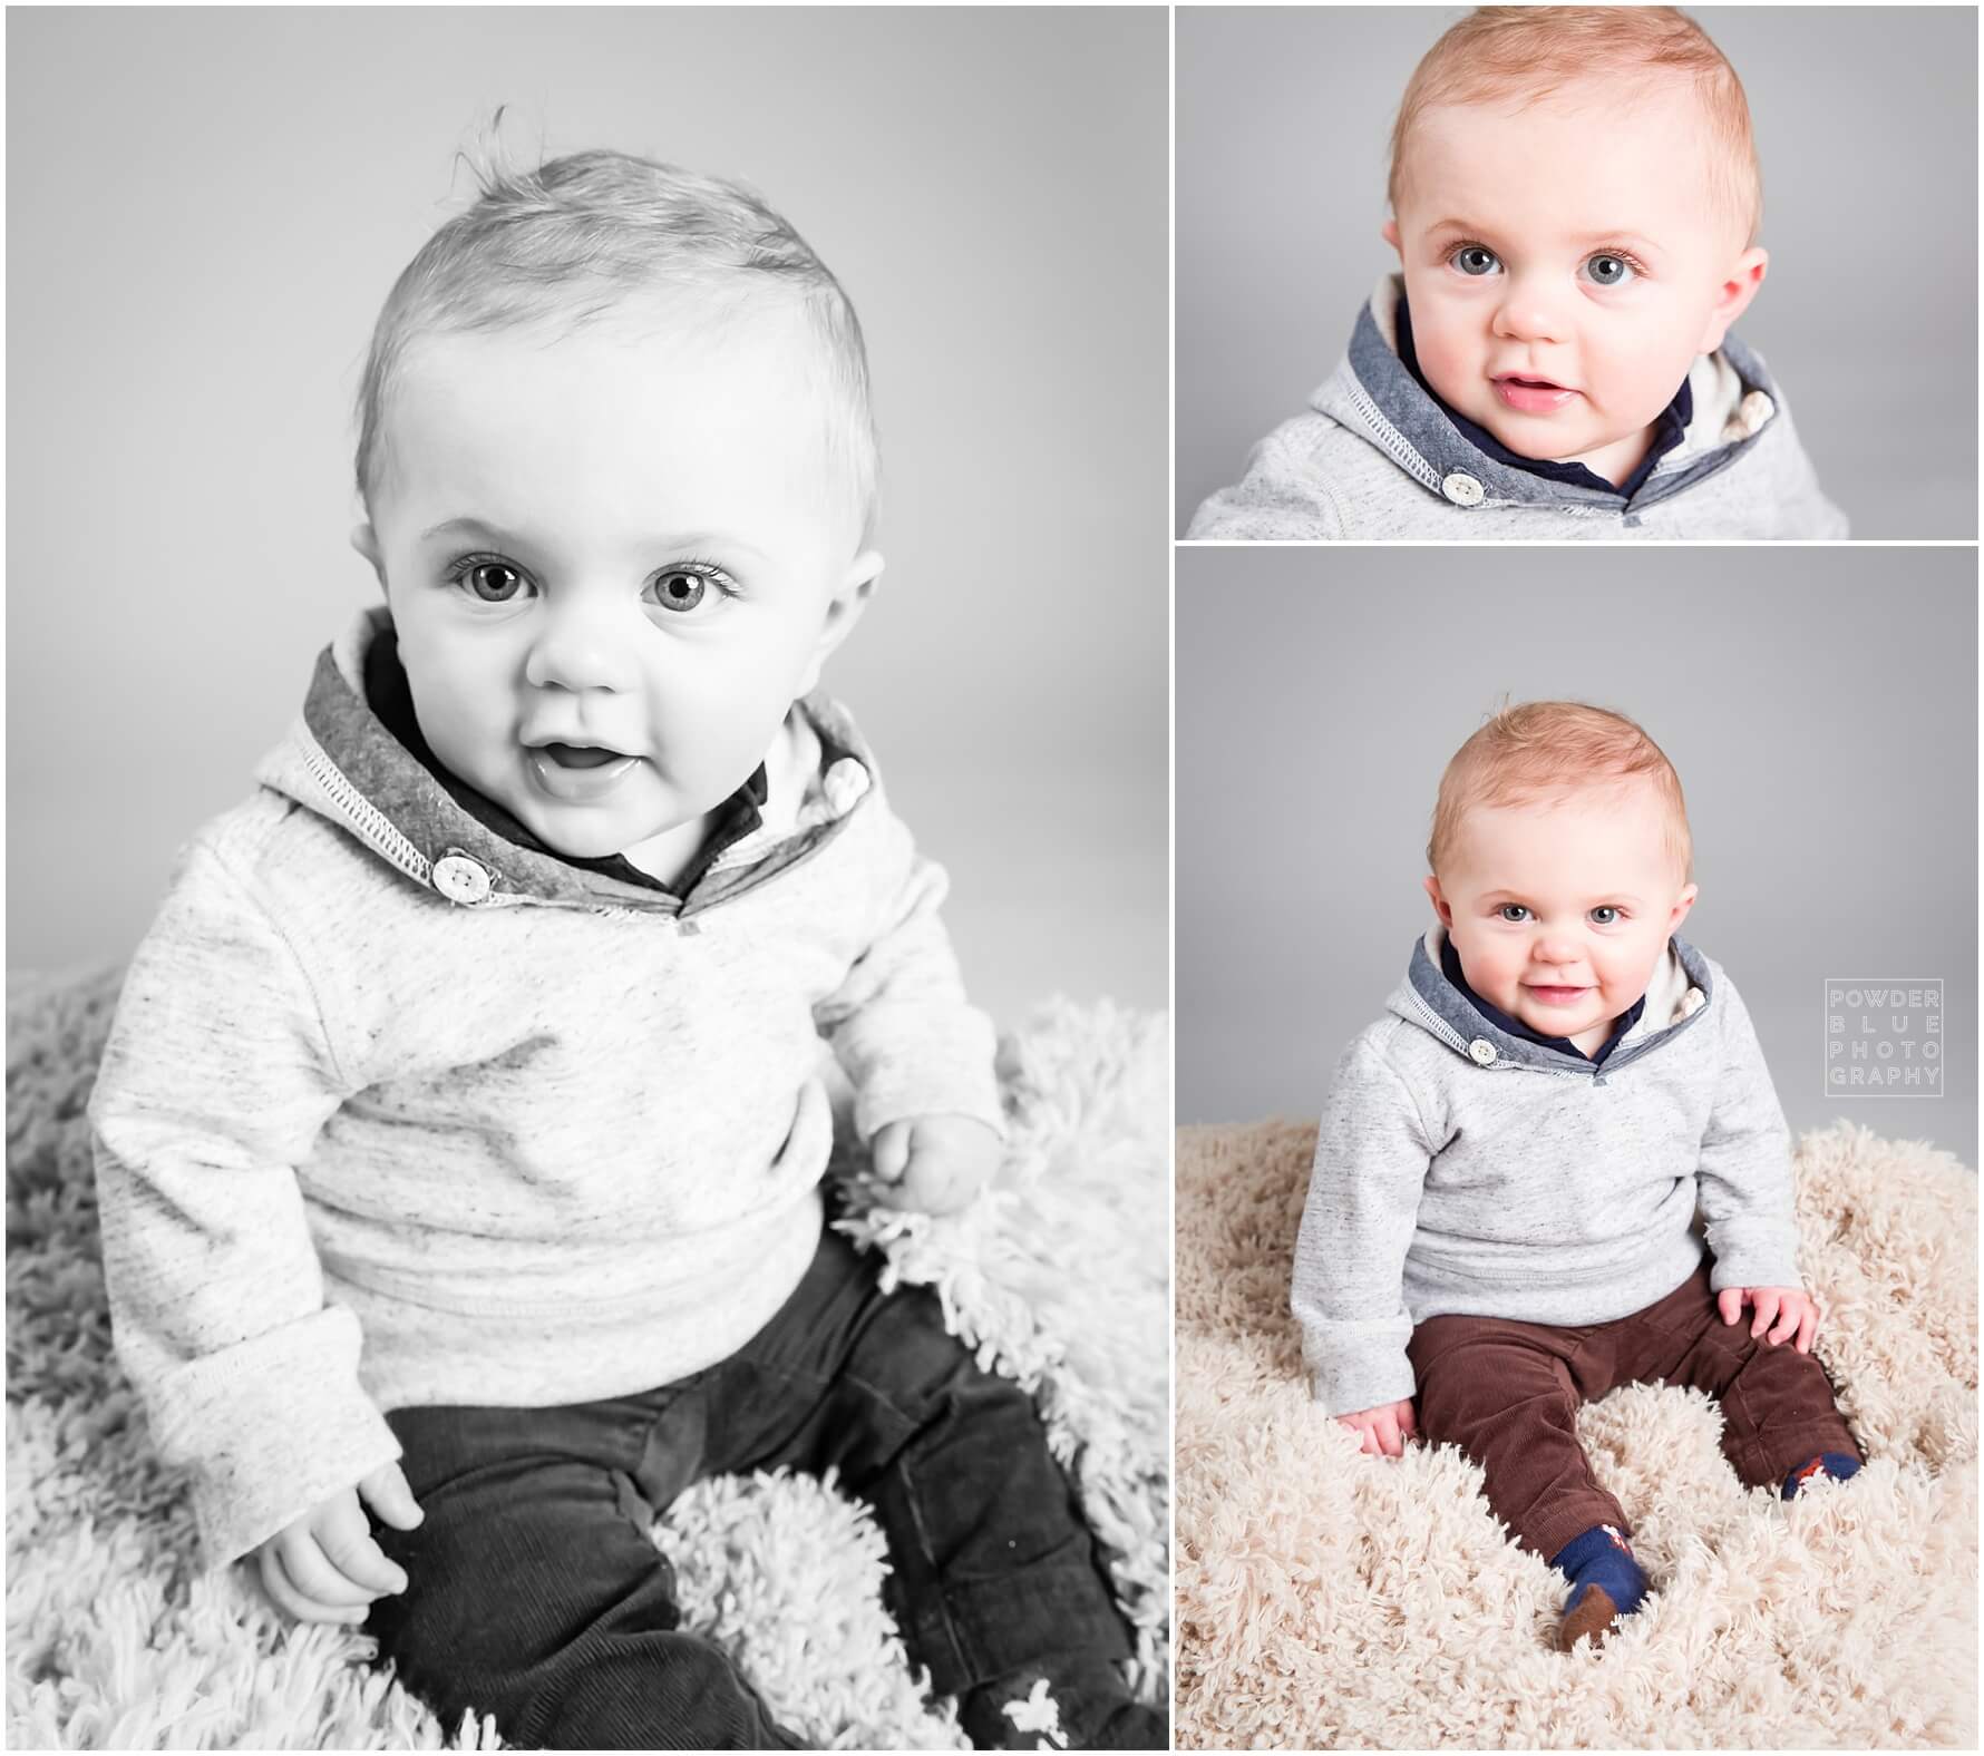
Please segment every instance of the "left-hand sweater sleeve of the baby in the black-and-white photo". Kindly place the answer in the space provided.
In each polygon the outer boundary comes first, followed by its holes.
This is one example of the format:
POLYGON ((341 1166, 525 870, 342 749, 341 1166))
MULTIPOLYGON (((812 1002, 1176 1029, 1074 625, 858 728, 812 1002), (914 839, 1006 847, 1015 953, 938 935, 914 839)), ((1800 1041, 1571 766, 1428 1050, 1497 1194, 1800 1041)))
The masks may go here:
POLYGON ((125 974, 89 1121, 117 1357, 190 1472, 208 1566, 399 1456, 296 1177, 343 1093, 296 952, 194 843, 125 974))

